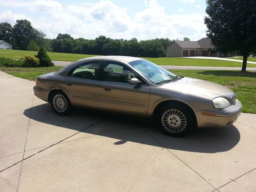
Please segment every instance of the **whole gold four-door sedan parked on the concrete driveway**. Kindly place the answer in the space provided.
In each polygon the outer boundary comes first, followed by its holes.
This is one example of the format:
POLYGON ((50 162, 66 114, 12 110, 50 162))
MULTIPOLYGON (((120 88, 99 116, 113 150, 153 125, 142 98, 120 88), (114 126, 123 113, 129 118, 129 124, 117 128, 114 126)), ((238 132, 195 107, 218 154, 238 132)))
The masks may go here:
POLYGON ((37 77, 34 94, 58 115, 73 106, 151 118, 180 137, 193 127, 228 126, 241 114, 234 92, 220 84, 179 77, 154 63, 126 56, 81 59, 37 77))

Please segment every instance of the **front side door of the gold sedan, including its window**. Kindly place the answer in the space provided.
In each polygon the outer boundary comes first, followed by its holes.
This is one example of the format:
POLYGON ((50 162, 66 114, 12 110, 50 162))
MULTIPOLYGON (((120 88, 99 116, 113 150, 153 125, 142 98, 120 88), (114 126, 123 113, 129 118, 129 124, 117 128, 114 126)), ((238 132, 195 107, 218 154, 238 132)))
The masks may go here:
POLYGON ((146 82, 123 63, 104 61, 101 68, 99 109, 145 117, 150 90, 146 82), (129 84, 131 78, 141 84, 129 84))

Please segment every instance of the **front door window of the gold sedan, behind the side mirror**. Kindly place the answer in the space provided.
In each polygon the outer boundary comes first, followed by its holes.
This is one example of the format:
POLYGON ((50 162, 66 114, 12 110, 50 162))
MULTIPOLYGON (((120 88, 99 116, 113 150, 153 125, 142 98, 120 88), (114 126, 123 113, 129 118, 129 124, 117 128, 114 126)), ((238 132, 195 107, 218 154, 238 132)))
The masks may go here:
POLYGON ((116 62, 106 62, 103 69, 103 81, 129 83, 131 78, 141 78, 131 69, 116 62))

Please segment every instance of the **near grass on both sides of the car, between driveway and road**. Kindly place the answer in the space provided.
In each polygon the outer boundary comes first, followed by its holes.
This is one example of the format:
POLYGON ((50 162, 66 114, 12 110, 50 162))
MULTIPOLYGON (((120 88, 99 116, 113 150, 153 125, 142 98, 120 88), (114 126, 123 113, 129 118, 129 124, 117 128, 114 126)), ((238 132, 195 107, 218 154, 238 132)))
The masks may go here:
MULTIPOLYGON (((9 68, 0 67, 8 74, 35 81, 41 74, 55 72, 62 67, 48 68, 9 68)), ((233 90, 243 103, 244 113, 256 114, 256 72, 211 71, 211 70, 170 70, 179 76, 194 77, 222 84, 233 90)))

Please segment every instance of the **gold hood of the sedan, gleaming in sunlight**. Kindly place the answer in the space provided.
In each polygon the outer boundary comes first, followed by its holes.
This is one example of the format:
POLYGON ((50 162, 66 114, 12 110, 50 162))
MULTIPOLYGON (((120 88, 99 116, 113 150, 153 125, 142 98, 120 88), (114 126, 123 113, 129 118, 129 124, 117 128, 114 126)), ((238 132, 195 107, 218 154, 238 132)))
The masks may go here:
POLYGON ((165 83, 162 85, 162 88, 176 90, 183 93, 204 95, 212 99, 220 96, 230 99, 234 94, 232 90, 222 86, 221 84, 188 77, 165 83))

